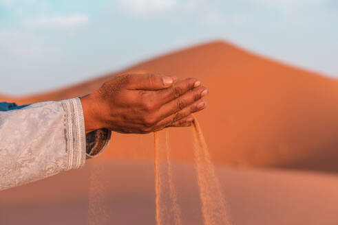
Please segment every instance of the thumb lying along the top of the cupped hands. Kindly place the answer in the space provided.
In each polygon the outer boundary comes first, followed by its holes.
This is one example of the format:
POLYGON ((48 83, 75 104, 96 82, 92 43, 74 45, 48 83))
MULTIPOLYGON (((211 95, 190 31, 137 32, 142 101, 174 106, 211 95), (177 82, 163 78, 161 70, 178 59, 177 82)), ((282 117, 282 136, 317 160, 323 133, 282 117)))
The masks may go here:
POLYGON ((147 74, 128 74, 125 76, 127 88, 129 90, 161 90, 169 88, 177 78, 156 75, 152 73, 147 74))

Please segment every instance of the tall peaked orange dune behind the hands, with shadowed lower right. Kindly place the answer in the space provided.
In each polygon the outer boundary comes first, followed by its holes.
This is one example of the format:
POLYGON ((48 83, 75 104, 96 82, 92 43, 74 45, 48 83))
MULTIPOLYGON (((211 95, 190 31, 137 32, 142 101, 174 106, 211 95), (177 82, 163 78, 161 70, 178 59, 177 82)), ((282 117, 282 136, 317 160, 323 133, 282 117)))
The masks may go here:
MULTIPOLYGON (((197 77, 210 89, 198 115, 219 165, 338 171, 338 81, 218 41, 176 51, 125 69, 197 77)), ((120 72, 124 72, 120 71, 120 72)), ((19 103, 85 95, 112 73, 19 103)), ((171 129, 173 158, 192 161, 188 129, 171 129)), ((113 134, 101 158, 151 159, 151 135, 113 134)))

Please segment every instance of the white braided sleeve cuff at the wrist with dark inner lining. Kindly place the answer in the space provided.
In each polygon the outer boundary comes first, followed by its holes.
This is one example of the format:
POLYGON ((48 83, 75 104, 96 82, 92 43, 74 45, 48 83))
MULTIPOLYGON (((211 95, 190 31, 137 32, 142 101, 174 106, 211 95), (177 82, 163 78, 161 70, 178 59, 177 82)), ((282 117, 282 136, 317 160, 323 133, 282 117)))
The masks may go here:
POLYGON ((100 129, 86 135, 81 100, 76 97, 61 102, 65 110, 68 169, 79 169, 85 165, 86 158, 94 158, 107 149, 112 132, 100 129))

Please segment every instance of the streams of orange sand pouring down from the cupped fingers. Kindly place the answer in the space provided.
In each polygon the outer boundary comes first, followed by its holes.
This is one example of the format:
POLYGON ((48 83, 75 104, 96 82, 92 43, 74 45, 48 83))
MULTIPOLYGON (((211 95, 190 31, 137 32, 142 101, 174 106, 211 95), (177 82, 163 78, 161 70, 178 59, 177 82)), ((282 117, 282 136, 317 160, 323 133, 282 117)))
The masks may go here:
MULTIPOLYGON (((198 187, 202 202, 202 215, 205 225, 229 225, 225 202, 220 183, 205 142, 200 125, 194 117, 193 152, 195 156, 198 187)), ((154 133, 155 142, 155 190, 156 190, 156 222, 158 225, 181 224, 180 206, 173 183, 169 132, 165 131, 165 147, 160 145, 158 132, 154 133)))

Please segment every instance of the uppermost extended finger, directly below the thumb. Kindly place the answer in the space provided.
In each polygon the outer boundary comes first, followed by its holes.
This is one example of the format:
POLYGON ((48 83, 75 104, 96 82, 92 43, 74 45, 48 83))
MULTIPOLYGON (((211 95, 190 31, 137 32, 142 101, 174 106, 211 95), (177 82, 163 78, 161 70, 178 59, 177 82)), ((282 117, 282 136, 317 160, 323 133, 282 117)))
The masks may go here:
POLYGON ((200 86, 200 84, 201 82, 196 78, 187 78, 174 83, 169 88, 158 91, 156 95, 162 104, 166 104, 187 93, 187 91, 200 86))

